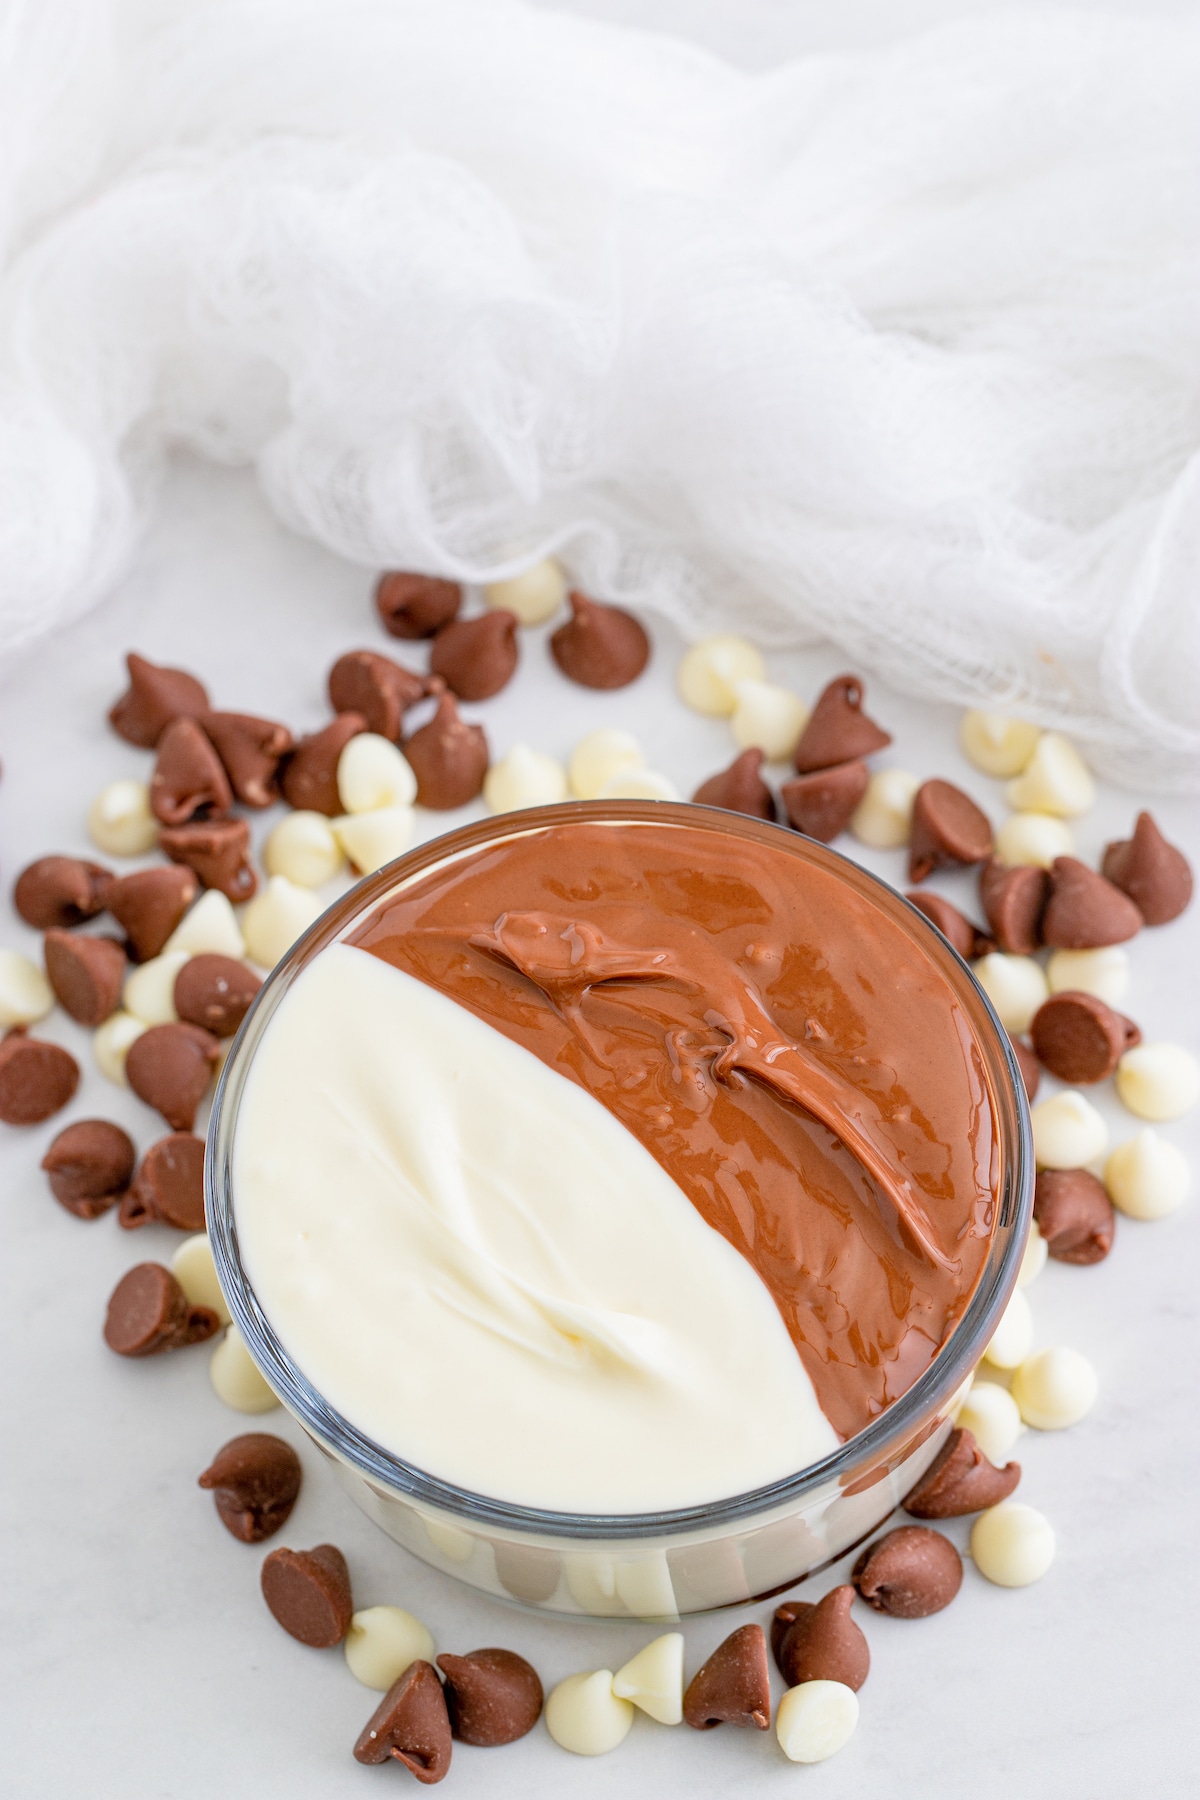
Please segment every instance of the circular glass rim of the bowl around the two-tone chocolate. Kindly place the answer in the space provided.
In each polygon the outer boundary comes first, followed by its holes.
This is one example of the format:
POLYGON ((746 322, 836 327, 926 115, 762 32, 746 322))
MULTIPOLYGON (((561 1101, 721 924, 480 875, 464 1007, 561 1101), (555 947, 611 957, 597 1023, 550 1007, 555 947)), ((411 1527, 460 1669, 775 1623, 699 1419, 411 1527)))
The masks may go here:
POLYGON ((896 887, 829 844, 747 814, 691 801, 563 801, 477 819, 417 844, 340 895, 291 945, 255 995, 221 1069, 207 1134, 205 1219, 221 1292, 252 1359, 306 1431, 376 1490, 488 1532, 576 1541, 664 1539, 718 1526, 732 1528, 766 1514, 795 1510, 831 1487, 846 1490, 871 1471, 885 1472, 900 1453, 912 1449, 914 1438, 919 1442, 921 1426, 945 1413, 952 1395, 982 1357, 1016 1285, 1033 1211, 1033 1175, 1029 1105, 1009 1035, 968 963, 896 887), (999 1211, 979 1280, 950 1336, 912 1386, 838 1449, 790 1476, 721 1499, 657 1512, 558 1512, 493 1499, 443 1481, 376 1444, 324 1399, 279 1343, 241 1265, 234 1217, 232 1152, 246 1071, 279 1003, 311 958, 342 940, 390 893, 430 875, 441 864, 493 842, 579 821, 671 824, 757 839, 833 871, 880 904, 916 934, 964 1003, 984 1057, 1002 1161, 999 1211))

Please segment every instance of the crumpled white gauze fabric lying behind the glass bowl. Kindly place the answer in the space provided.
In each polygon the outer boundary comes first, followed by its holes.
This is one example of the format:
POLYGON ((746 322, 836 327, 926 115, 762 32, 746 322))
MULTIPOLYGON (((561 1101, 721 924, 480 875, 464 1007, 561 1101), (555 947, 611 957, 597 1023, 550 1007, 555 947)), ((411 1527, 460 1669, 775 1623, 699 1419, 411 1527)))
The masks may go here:
POLYGON ((745 74, 515 0, 9 0, 0 650, 173 446, 344 556, 561 553, 689 635, 1200 767, 1200 38, 745 74))

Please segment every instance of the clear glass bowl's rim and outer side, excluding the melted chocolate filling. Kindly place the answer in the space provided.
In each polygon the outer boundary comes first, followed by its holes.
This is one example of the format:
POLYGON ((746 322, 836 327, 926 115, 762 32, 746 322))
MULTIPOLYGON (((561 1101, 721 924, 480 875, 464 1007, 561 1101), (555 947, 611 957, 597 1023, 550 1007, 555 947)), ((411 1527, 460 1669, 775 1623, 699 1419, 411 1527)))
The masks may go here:
POLYGON ((963 959, 892 887, 824 844, 759 819, 662 801, 540 806, 468 824, 367 877, 279 963, 255 999, 218 1087, 205 1168, 209 1235, 218 1276, 250 1355, 282 1404, 331 1460, 363 1512, 435 1568, 560 1615, 678 1618, 766 1598, 865 1539, 918 1481, 950 1429, 959 1390, 982 1357, 1013 1291, 1033 1204, 1029 1109, 1007 1033, 963 959), (486 844, 604 819, 680 824, 770 841, 837 873, 919 940, 972 1022, 991 1089, 999 1139, 999 1219, 966 1310, 930 1366, 900 1400, 838 1451, 748 1494, 653 1514, 565 1514, 471 1494, 439 1481, 363 1436, 313 1388, 281 1346, 237 1253, 232 1148, 246 1069, 297 974, 381 900, 486 844))

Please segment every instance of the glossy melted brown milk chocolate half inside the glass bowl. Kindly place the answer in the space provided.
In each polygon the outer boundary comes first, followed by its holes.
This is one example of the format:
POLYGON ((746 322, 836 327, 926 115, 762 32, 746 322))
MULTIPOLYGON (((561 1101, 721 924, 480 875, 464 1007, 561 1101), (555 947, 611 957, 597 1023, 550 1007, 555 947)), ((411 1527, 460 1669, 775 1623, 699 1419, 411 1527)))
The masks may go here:
POLYGON ((934 959, 835 873, 579 821, 421 877, 351 943, 633 1132, 759 1273, 842 1436, 928 1366, 997 1217, 984 1064, 934 959))

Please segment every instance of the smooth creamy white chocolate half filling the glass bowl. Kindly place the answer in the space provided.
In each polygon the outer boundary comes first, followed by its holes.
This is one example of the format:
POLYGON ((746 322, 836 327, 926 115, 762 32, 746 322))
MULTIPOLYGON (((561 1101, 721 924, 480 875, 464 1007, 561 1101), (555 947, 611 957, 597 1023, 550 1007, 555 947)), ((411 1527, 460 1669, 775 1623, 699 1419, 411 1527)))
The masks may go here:
POLYGON ((246 1076, 241 1255, 304 1375, 500 1499, 642 1512, 837 1447, 770 1292, 590 1094, 347 945, 246 1076))

